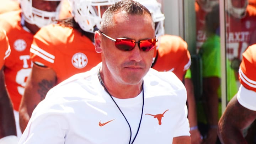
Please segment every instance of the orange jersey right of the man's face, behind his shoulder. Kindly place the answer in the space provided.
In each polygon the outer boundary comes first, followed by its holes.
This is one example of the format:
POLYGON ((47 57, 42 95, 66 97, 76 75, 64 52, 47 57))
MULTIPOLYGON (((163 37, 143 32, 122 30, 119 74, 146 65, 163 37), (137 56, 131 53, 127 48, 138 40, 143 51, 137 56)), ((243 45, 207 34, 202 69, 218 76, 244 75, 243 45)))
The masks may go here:
POLYGON ((158 55, 152 66, 158 71, 172 71, 180 80, 191 65, 187 43, 178 36, 165 34, 156 43, 158 55))

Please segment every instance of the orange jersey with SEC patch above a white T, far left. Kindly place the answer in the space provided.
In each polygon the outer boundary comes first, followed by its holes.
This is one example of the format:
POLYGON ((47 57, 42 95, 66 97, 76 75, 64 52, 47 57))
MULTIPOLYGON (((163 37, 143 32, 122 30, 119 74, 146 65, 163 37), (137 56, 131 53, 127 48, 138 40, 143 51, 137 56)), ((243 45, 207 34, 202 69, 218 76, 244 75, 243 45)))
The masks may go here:
POLYGON ((27 76, 31 71, 29 50, 33 34, 21 26, 20 10, 1 14, 0 27, 6 31, 11 47, 11 54, 4 64, 5 82, 14 110, 18 111, 27 76))

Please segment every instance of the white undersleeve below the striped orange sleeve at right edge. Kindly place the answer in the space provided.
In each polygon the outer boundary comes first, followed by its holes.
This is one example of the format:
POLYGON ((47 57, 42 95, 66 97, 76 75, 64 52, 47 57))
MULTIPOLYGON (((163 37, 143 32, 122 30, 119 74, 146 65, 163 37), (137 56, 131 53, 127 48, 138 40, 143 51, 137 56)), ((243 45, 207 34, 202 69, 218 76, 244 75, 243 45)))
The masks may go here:
POLYGON ((256 111, 256 92, 246 89, 243 85, 239 87, 237 100, 245 108, 256 111))

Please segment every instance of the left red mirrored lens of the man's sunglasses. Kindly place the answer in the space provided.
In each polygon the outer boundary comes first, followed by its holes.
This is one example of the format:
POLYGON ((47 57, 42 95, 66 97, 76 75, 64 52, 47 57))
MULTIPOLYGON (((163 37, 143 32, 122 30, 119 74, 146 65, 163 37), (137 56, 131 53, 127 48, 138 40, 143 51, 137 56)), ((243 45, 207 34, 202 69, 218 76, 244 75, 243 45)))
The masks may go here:
POLYGON ((132 50, 135 47, 135 42, 132 39, 116 39, 115 46, 124 51, 132 50))

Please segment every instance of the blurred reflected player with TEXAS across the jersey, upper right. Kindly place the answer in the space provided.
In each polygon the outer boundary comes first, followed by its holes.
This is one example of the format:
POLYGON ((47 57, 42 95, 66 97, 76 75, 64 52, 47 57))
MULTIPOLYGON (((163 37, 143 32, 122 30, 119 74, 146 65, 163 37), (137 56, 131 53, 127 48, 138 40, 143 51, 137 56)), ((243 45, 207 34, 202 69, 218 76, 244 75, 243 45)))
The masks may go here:
MULTIPOLYGON (((248 0, 226 0, 226 51, 238 74, 242 53, 256 43, 256 9, 248 0)), ((238 79, 238 75, 237 79, 238 79)))

